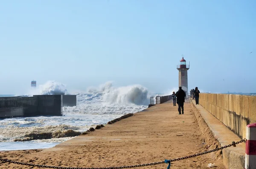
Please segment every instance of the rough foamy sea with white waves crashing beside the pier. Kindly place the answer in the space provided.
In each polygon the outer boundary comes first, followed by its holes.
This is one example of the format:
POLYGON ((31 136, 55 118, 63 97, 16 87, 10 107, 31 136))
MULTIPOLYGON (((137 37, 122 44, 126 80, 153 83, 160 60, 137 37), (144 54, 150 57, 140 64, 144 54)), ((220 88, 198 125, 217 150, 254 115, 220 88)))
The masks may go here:
MULTIPOLYGON (((38 89, 29 91, 31 95, 67 94, 65 86, 56 81, 48 81, 38 89)), ((107 124, 108 121, 140 112, 148 107, 152 94, 141 85, 113 87, 107 82, 86 92, 75 92, 77 106, 63 107, 63 116, 16 117, 0 119, 0 151, 21 149, 45 149, 53 147, 73 137, 60 133, 85 132, 90 127, 107 124), (51 139, 26 140, 29 135, 50 133, 51 139), (16 140, 16 141, 15 141, 16 140)), ((17 95, 0 95, 11 97, 17 95)), ((20 95, 19 95, 20 96, 20 95)))

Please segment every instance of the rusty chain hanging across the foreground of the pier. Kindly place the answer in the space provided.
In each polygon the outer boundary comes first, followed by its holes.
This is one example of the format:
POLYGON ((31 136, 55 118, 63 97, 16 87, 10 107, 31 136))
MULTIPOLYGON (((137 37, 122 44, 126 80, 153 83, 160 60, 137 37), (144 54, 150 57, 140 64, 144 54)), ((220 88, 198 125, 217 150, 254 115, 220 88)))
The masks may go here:
MULTIPOLYGON (((236 147, 236 144, 246 142, 246 141, 247 141, 247 139, 244 138, 243 140, 240 140, 240 141, 237 141, 237 142, 233 141, 232 144, 229 144, 227 146, 223 146, 223 147, 213 149, 213 150, 209 150, 209 151, 206 151, 206 152, 201 152, 201 153, 198 153, 198 154, 195 154, 195 155, 189 155, 189 156, 182 157, 182 158, 175 158, 175 159, 168 160, 168 161, 173 162, 173 161, 184 160, 184 159, 187 159, 187 158, 192 158, 192 157, 196 157, 196 156, 200 156, 200 155, 205 155, 205 154, 208 154, 208 153, 211 153, 211 152, 226 149, 227 147, 231 147, 231 146, 236 147)), ((3 161, 4 163, 9 162, 9 163, 15 163, 15 164, 26 165, 26 166, 37 166, 37 167, 53 168, 53 169, 125 169, 125 168, 141 167, 141 166, 153 166, 153 165, 157 165, 157 164, 166 163, 165 161, 160 161, 160 162, 155 162, 155 163, 138 164, 138 165, 132 165, 132 166, 83 168, 83 167, 45 166, 45 165, 39 165, 39 164, 21 163, 21 162, 17 162, 17 161, 8 160, 8 159, 0 159, 0 161, 3 161)))

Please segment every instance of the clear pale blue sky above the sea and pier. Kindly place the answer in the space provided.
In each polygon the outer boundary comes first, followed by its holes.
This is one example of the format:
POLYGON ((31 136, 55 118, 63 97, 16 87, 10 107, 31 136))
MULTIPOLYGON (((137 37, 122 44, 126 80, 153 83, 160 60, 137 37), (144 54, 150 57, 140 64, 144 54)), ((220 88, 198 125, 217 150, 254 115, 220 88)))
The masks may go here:
POLYGON ((256 92, 255 0, 12 0, 0 5, 0 94, 31 80, 256 92), (250 52, 253 52, 249 54, 250 52))

